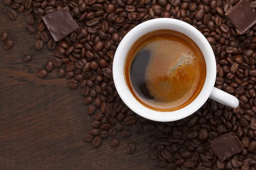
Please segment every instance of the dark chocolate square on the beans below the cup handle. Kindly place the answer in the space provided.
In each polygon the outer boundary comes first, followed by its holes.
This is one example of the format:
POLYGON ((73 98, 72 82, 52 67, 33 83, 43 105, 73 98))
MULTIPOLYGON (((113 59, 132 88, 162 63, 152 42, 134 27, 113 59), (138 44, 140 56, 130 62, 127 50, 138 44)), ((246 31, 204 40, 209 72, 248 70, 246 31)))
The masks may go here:
POLYGON ((213 139, 210 145, 221 161, 239 153, 243 149, 241 142, 232 132, 213 139))

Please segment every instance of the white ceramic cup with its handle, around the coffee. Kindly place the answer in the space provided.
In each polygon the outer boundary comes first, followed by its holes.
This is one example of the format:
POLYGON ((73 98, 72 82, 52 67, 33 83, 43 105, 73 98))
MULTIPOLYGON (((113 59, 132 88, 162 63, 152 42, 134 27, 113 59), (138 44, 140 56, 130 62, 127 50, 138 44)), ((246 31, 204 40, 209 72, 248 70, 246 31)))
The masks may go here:
POLYGON ((113 79, 116 90, 123 102, 125 102, 125 104, 135 113, 145 117, 146 119, 154 121, 171 122, 183 119, 201 108, 208 98, 214 99, 217 102, 232 108, 236 108, 239 105, 239 100, 235 96, 214 87, 216 79, 216 61, 212 48, 207 39, 193 26, 176 19, 158 18, 148 20, 129 31, 116 49, 116 54, 113 61, 113 79), (191 38, 201 49, 206 63, 207 74, 200 94, 189 105, 186 105, 184 108, 176 111, 161 112, 145 107, 139 101, 137 101, 137 99, 135 99, 125 82, 125 59, 131 46, 143 35, 159 29, 178 31, 191 38))

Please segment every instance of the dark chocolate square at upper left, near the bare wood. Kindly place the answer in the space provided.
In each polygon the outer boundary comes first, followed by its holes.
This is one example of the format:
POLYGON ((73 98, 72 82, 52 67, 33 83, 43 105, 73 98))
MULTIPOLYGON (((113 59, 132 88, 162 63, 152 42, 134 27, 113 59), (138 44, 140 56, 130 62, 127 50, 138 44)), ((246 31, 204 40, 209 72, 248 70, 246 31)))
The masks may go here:
POLYGON ((79 28, 70 11, 66 9, 49 13, 42 19, 55 41, 61 40, 79 28))

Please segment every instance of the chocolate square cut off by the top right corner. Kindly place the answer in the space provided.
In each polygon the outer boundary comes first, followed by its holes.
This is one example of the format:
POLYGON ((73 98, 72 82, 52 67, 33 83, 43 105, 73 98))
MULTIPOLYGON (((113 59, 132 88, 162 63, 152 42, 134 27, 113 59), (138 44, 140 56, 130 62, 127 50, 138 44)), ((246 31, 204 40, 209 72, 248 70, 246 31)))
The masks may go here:
POLYGON ((256 23, 256 14, 247 0, 240 0, 233 8, 227 11, 225 16, 236 28, 237 34, 244 34, 256 23))

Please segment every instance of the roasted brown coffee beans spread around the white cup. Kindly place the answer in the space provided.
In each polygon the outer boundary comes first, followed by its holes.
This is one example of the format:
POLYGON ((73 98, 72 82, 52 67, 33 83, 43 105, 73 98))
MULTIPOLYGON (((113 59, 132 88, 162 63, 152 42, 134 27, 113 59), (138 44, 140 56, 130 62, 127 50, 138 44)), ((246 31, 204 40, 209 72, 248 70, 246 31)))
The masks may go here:
MULTIPOLYGON (((35 48, 39 50, 46 43, 50 50, 55 50, 55 58, 46 62, 38 77, 46 77, 58 68, 58 76, 69 79, 69 88, 81 87, 87 113, 94 116, 92 129, 84 140, 94 147, 116 133, 131 136, 126 125, 133 126, 136 133, 156 127, 131 111, 116 92, 113 57, 125 34, 142 22, 160 17, 191 24, 207 38, 214 51, 215 87, 236 96, 240 104, 232 109, 209 99, 193 115, 163 122, 158 127, 162 133, 148 137, 152 145, 148 154, 156 166, 167 170, 256 170, 256 26, 238 35, 224 16, 238 1, 3 0, 12 7, 3 11, 11 19, 18 19, 15 11, 23 12, 27 30, 35 33, 35 48), (56 43, 41 18, 63 8, 70 10, 80 28, 56 43), (238 136, 244 149, 220 161, 209 144, 228 132, 238 136)), ((255 1, 249 2, 255 12, 255 1)), ((112 137, 110 146, 118 145, 119 139, 112 137)), ((127 145, 127 152, 136 152, 134 142, 127 145)))

